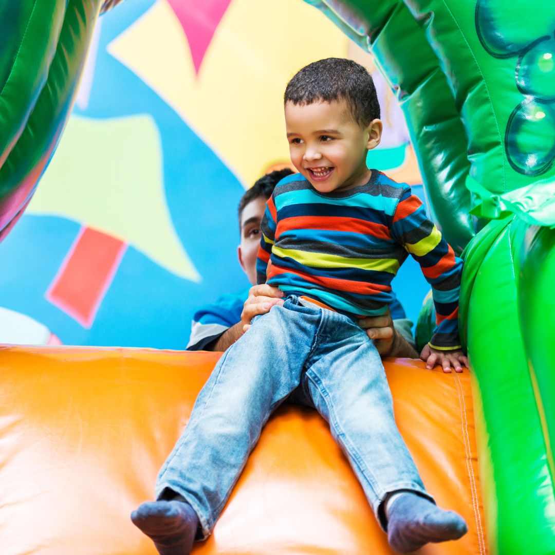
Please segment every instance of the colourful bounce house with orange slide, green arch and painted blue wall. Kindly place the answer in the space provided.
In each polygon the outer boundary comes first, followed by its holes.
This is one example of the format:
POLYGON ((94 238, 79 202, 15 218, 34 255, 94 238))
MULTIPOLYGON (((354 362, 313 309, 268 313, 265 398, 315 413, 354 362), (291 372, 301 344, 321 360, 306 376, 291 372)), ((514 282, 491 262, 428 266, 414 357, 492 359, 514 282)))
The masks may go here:
MULTIPOLYGON (((385 361, 396 420, 426 487, 469 527, 421 553, 555 553, 552 0, 269 4, 0 7, 0 320, 34 330, 26 341, 0 337, 0 552, 155 552, 129 513, 152 499, 220 356, 179 350, 192 310, 182 299, 192 306, 208 302, 218 282, 239 285, 236 262, 221 253, 235 248, 241 184, 286 159, 286 145, 269 155, 273 144, 251 138, 246 147, 231 134, 256 129, 266 102, 279 114, 287 78, 341 54, 333 45, 344 41, 342 56, 381 70, 406 119, 412 146, 392 145, 381 166, 410 182, 406 169, 417 161, 428 210, 465 260, 460 328, 470 371, 385 361), (314 40, 305 35, 314 30, 314 40), (281 49, 279 37, 306 58, 262 63, 260 52, 281 49), (163 63, 183 59, 175 52, 184 45, 186 65, 163 63), (226 55, 249 59, 255 77, 238 74, 226 55), (116 65, 118 87, 102 77, 116 65), (387 156, 400 158, 387 165, 387 156), (203 230, 204 243, 199 214, 218 222, 203 230), (42 285, 33 289, 33 279, 42 285), (152 297, 168 311, 149 308, 152 297), (50 345, 7 344, 25 342, 50 345)), ((278 137, 273 114, 266 126, 278 137)), ((421 336, 430 312, 421 312, 421 336)), ((327 423, 284 405, 194 553, 392 551, 327 423)))

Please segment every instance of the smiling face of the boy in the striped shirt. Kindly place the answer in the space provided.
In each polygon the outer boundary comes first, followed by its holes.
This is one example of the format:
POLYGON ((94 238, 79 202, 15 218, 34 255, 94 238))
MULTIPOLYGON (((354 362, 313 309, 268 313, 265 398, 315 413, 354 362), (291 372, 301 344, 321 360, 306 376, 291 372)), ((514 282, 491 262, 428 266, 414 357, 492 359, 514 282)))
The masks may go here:
POLYGON ((285 105, 291 162, 320 193, 364 185, 366 154, 380 143, 382 124, 357 124, 345 100, 285 105))

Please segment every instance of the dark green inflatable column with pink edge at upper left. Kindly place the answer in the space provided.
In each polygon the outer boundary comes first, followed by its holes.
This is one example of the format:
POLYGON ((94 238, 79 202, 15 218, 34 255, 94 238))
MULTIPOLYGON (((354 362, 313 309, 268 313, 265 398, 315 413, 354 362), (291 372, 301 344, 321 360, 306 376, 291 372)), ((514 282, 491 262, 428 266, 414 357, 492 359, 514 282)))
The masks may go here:
POLYGON ((0 240, 54 154, 101 3, 20 0, 0 8, 0 240))

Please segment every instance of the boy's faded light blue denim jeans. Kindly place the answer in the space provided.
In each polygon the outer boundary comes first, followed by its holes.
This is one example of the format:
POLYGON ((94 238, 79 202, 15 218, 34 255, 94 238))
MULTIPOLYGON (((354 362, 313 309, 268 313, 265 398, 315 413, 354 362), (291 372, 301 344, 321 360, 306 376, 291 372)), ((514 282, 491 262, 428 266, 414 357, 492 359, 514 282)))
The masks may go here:
POLYGON ((314 406, 329 422, 372 509, 387 494, 427 495, 395 425, 384 366, 349 317, 286 299, 257 316, 221 357, 188 425, 158 476, 156 498, 179 493, 208 536, 271 413, 286 399, 314 406))

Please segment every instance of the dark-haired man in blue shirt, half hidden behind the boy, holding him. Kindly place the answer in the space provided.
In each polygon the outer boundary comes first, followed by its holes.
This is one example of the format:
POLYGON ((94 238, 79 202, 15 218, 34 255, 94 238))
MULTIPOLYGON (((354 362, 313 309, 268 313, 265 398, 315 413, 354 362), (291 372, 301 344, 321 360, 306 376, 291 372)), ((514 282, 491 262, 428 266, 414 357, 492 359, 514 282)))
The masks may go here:
MULTIPOLYGON (((274 304, 283 304, 282 293, 277 287, 256 285, 256 257, 266 201, 279 181, 292 173, 289 168, 271 171, 257 179, 241 197, 238 210, 238 258, 254 287, 226 293, 213 304, 201 306, 194 315, 187 350, 225 351, 243 335, 244 326, 254 316, 265 314, 274 304)), ((359 320, 359 325, 368 329, 367 333, 374 340, 381 356, 416 358, 418 355, 411 333, 412 322, 406 318, 397 299, 390 304, 390 311, 391 314, 359 320)))

